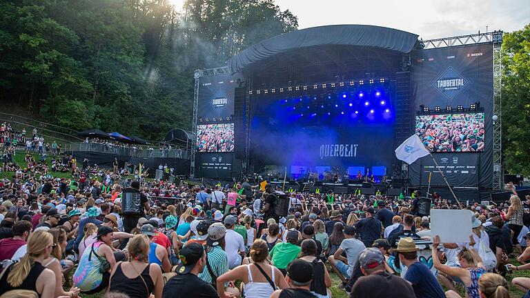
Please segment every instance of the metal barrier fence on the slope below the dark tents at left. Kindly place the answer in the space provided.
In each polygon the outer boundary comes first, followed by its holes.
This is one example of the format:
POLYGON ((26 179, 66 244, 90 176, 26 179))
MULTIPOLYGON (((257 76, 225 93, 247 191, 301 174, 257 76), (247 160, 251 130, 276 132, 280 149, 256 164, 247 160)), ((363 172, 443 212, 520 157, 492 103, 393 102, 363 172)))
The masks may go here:
POLYGON ((70 143, 70 151, 90 151, 90 152, 104 152, 115 155, 127 155, 133 157, 169 157, 188 159, 190 152, 182 149, 148 149, 143 147, 125 148, 108 146, 101 143, 70 143))

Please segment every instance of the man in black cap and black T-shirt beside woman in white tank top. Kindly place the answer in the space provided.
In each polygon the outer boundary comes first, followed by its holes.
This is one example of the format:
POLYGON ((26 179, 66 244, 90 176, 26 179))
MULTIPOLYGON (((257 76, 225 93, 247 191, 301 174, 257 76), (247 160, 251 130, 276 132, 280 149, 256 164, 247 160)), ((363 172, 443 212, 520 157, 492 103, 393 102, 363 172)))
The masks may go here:
POLYGON ((204 270, 206 253, 200 244, 188 244, 179 252, 181 263, 175 268, 177 275, 171 277, 162 292, 162 298, 217 298, 213 286, 197 275, 204 270))

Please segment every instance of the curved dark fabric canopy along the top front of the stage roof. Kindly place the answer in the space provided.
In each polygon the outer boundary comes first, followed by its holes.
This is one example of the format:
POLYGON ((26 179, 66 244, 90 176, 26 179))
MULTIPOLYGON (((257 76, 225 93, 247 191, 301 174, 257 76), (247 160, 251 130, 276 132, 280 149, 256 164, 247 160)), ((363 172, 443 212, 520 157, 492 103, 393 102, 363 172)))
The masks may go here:
POLYGON ((418 35, 402 30, 368 25, 333 25, 306 28, 271 37, 246 48, 227 61, 232 72, 253 63, 305 48, 359 46, 408 53, 418 43, 418 35))

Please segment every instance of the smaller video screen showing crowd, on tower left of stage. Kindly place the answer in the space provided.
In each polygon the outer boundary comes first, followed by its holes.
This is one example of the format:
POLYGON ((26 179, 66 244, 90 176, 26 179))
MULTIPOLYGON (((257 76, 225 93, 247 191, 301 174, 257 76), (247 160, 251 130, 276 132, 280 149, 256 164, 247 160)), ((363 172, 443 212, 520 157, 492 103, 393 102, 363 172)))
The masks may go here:
POLYGON ((234 152, 234 123, 197 126, 197 152, 234 152))

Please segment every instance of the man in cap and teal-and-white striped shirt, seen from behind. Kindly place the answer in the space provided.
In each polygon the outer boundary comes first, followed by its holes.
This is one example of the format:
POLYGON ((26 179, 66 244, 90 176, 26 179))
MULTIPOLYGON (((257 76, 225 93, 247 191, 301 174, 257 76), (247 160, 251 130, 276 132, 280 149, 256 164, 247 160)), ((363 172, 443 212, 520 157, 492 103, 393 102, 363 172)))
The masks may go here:
POLYGON ((208 238, 206 239, 206 264, 199 278, 217 287, 215 279, 228 272, 228 255, 223 250, 226 227, 223 223, 213 223, 208 227, 208 238))

